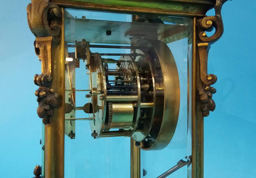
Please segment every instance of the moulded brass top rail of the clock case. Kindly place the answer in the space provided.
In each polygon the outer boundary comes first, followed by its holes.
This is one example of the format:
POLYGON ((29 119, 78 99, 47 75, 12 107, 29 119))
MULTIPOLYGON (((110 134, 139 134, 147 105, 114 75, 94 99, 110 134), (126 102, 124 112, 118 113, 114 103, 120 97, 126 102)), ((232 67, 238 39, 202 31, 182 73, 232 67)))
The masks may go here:
MULTIPOLYGON (((226 0, 225 0, 226 1, 226 0)), ((205 16, 215 0, 50 0, 65 8, 150 13, 172 16, 205 16)))

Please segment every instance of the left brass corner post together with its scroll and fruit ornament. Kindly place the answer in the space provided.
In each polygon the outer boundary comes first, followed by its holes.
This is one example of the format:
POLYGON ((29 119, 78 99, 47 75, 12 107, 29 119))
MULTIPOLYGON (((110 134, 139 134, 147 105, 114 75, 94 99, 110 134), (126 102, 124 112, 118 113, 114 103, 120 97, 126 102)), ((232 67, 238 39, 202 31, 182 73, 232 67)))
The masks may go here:
MULTIPOLYGON (((36 36, 35 52, 42 63, 42 73, 36 74, 39 86, 38 116, 45 125, 45 154, 42 159, 44 177, 64 177, 64 30, 63 9, 48 0, 31 0, 27 6, 31 32, 36 36)), ((40 166, 36 166, 36 177, 40 166)))

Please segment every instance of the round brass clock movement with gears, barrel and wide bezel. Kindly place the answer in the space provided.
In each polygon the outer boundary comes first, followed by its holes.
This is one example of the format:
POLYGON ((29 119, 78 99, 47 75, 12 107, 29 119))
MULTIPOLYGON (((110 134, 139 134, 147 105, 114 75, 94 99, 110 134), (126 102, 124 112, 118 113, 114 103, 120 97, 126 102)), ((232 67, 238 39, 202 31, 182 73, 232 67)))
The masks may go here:
POLYGON ((169 144, 179 113, 179 79, 170 49, 157 39, 140 42, 137 48, 145 51, 135 48, 130 55, 116 54, 121 57, 111 61, 114 69, 99 53, 90 53, 86 42, 94 108, 86 113, 95 113, 90 122, 94 138, 109 135, 103 131, 125 129, 130 130, 128 136, 143 142, 142 149, 163 149, 169 144))

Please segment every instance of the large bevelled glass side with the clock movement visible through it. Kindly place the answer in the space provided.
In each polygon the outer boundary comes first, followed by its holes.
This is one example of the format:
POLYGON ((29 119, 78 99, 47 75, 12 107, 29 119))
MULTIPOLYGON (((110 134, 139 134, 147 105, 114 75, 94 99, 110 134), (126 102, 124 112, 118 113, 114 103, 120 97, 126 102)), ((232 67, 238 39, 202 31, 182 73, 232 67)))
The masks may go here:
POLYGON ((130 177, 128 137, 145 177, 191 155, 190 18, 66 9, 65 40, 65 177, 130 177))

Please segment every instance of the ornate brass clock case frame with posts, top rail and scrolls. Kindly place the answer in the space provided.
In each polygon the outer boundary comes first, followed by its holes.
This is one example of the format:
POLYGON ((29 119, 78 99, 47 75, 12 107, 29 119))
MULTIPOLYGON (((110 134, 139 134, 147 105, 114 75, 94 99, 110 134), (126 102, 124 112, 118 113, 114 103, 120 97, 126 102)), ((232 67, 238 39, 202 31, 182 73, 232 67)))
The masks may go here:
MULTIPOLYGON (((39 105, 37 111, 38 116, 43 118, 43 123, 46 124, 45 166, 43 166, 44 170, 41 171, 41 167, 37 165, 34 170, 34 175, 39 177, 42 173, 46 178, 64 177, 65 42, 63 10, 64 8, 79 8, 137 15, 146 13, 193 18, 191 162, 192 177, 203 178, 203 120, 204 117, 209 115, 210 111, 214 111, 215 109, 212 94, 216 92, 216 89, 211 85, 217 81, 216 75, 208 74, 207 72, 208 53, 211 44, 216 42, 223 34, 223 22, 220 11, 226 1, 227 0, 31 0, 31 3, 27 6, 28 24, 31 32, 36 36, 34 42, 35 51, 39 60, 42 62, 42 73, 40 75, 36 74, 34 77, 35 84, 39 86, 38 90, 35 92, 38 97, 39 105), (212 8, 215 8, 215 16, 205 16, 206 12, 212 8), (205 32, 211 31, 213 28, 215 28, 214 35, 208 37, 205 32)), ((99 100, 104 100, 104 97, 99 98, 99 100)), ((154 105, 154 103, 152 103, 152 105, 154 105)), ((152 107, 152 105, 147 105, 147 107, 152 107)), ((135 105, 131 106, 135 107, 135 105)), ((141 105, 141 107, 143 106, 141 105)), ((91 120, 94 118, 95 116, 93 116, 91 120)), ((112 124, 113 122, 111 121, 109 127, 111 127, 112 124)), ((175 129, 172 129, 170 134, 173 135, 174 131, 175 129)), ((114 131, 106 132, 102 137, 110 137, 113 136, 113 134, 116 136, 118 135, 116 132, 122 136, 131 135, 130 131, 119 130, 115 131, 115 133, 114 131)), ((98 137, 98 135, 93 136, 98 137)), ((135 141, 131 139, 132 178, 140 177, 140 149, 138 145, 139 144, 135 147, 135 141)))

